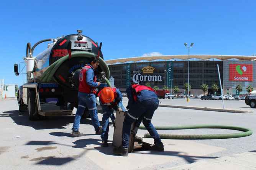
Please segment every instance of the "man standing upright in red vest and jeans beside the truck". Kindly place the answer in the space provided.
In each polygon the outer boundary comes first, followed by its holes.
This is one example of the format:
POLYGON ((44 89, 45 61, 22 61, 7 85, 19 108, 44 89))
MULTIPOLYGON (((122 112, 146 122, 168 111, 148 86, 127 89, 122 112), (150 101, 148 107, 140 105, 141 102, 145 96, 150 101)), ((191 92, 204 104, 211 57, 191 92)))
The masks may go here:
POLYGON ((96 87, 100 85, 101 82, 96 82, 96 75, 94 69, 98 67, 100 63, 97 57, 91 57, 89 59, 89 64, 86 64, 79 74, 79 90, 78 90, 78 107, 75 114, 75 119, 72 128, 72 137, 83 136, 83 133, 79 132, 79 124, 81 116, 84 113, 85 107, 89 109, 89 113, 92 119, 92 125, 96 131, 96 135, 101 134, 101 126, 98 120, 98 110, 96 106, 96 87))

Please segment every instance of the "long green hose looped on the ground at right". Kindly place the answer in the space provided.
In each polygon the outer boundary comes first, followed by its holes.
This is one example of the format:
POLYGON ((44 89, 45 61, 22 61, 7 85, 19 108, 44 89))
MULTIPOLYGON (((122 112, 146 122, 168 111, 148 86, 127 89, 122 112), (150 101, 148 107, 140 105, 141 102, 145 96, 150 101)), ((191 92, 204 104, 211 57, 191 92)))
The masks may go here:
MULTIPOLYGON (((146 129, 144 126, 139 126, 140 129, 146 129)), ((159 134, 162 139, 180 139, 180 140, 203 140, 203 139, 227 139, 227 138, 240 138, 253 134, 249 128, 224 126, 224 125, 185 125, 185 126, 156 126, 156 130, 178 130, 178 129, 197 129, 197 128, 218 128, 218 129, 231 129, 239 130, 241 133, 230 134, 211 134, 211 135, 171 135, 159 134)), ((149 133, 144 134, 145 138, 152 138, 149 133)))

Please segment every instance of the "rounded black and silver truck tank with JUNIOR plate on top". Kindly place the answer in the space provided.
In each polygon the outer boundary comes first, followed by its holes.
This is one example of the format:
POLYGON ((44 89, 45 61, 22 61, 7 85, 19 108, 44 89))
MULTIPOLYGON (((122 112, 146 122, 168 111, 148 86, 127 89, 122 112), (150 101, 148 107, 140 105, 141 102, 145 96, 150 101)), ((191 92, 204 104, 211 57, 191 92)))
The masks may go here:
POLYGON ((62 87, 78 89, 80 70, 92 55, 98 55, 98 53, 101 60, 95 73, 98 75, 104 71, 108 79, 109 69, 103 61, 98 43, 85 35, 80 34, 82 36, 80 38, 78 36, 79 34, 72 34, 58 38, 56 43, 49 45, 46 50, 36 56, 32 72, 35 82, 54 82, 62 87), (48 71, 52 65, 56 66, 48 71))

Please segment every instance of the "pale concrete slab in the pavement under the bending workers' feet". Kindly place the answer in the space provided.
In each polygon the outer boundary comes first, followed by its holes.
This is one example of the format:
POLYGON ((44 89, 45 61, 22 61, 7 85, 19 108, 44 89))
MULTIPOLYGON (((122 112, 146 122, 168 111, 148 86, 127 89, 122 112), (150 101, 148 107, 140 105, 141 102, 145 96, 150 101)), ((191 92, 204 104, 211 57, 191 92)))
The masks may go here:
MULTIPOLYGON (((143 141, 154 143, 151 138, 143 138, 143 141)), ((105 170, 132 170, 182 159, 200 159, 204 155, 225 150, 225 148, 185 140, 162 140, 162 142, 164 143, 164 152, 139 151, 129 153, 128 157, 114 156, 112 154, 113 147, 111 146, 102 148, 96 145, 88 145, 86 156, 105 170), (95 149, 99 149, 104 154, 95 152, 95 149)))

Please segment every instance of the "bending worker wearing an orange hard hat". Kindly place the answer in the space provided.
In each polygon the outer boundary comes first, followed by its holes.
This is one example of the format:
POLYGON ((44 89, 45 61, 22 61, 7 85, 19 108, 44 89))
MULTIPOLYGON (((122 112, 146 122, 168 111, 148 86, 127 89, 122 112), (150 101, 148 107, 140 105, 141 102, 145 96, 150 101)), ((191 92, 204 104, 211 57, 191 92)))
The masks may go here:
POLYGON ((102 139, 102 146, 108 147, 109 118, 112 120, 115 127, 115 115, 113 114, 113 109, 120 112, 125 112, 126 109, 123 107, 123 97, 118 88, 105 87, 98 93, 98 96, 103 112, 100 137, 102 139))

